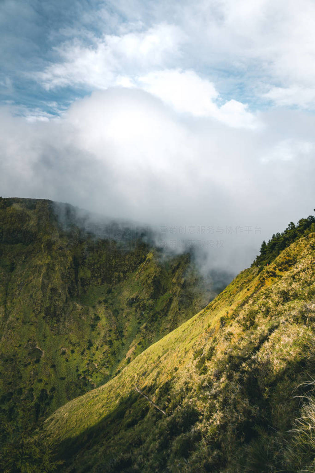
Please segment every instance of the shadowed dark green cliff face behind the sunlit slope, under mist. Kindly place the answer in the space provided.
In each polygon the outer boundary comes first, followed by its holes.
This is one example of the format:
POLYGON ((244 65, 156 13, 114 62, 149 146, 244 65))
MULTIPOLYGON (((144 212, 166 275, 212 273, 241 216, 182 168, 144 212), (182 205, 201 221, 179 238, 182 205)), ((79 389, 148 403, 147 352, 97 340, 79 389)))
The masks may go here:
POLYGON ((129 250, 106 235, 96 245, 85 224, 71 206, 0 200, 0 407, 9 417, 27 400, 39 418, 104 383, 215 296, 189 254, 162 260, 140 239, 129 250))

